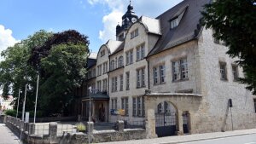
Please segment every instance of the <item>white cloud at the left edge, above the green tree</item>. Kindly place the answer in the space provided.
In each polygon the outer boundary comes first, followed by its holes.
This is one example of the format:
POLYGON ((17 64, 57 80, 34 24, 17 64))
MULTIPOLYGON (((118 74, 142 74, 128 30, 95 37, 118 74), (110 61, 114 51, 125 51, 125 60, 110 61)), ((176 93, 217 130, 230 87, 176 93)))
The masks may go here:
POLYGON ((19 42, 12 36, 12 33, 12 30, 5 29, 3 25, 0 25, 0 52, 19 42))

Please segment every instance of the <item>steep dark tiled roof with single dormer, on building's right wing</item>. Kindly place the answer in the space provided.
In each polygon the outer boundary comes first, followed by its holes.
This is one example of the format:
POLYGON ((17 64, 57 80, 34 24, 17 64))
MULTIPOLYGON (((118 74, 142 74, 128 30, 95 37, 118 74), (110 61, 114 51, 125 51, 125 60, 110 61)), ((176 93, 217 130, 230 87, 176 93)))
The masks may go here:
POLYGON ((203 5, 210 3, 211 0, 184 0, 178 3, 172 9, 160 14, 156 19, 160 20, 161 36, 148 56, 158 54, 166 49, 188 42, 197 37, 200 31, 200 19, 203 5), (183 13, 184 12, 184 13, 183 13), (173 29, 170 26, 170 20, 183 13, 179 25, 173 29))

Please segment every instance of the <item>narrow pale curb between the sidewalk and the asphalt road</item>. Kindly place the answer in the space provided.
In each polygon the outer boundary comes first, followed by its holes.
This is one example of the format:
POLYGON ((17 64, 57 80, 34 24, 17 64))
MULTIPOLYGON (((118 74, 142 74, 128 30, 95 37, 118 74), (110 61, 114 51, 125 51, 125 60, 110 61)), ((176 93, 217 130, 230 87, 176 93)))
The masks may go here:
POLYGON ((227 138, 227 137, 235 137, 235 136, 241 136, 241 135, 253 135, 253 134, 256 134, 256 132, 247 133, 247 134, 238 134, 238 135, 218 136, 218 137, 212 137, 212 138, 202 138, 202 139, 188 140, 188 141, 160 142, 158 144, 177 144, 177 143, 184 143, 184 142, 206 141, 206 140, 214 140, 214 139, 221 139, 221 138, 227 138))

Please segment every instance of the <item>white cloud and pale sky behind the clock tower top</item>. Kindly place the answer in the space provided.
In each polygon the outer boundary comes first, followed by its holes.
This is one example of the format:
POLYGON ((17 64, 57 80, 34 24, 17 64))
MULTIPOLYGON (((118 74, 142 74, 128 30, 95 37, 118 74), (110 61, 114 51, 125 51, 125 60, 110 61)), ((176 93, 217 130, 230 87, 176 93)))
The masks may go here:
MULTIPOLYGON (((159 0, 134 0, 131 2, 131 5, 133 5, 134 11, 139 17, 146 15, 154 18, 181 1, 161 0, 160 2, 159 0)), ((124 0, 87 0, 87 2, 91 5, 104 4, 108 6, 110 11, 102 18, 103 30, 99 32, 99 38, 103 43, 108 41, 108 39, 115 39, 115 26, 121 23, 121 17, 127 10, 129 1, 127 0, 124 3, 124 0)))

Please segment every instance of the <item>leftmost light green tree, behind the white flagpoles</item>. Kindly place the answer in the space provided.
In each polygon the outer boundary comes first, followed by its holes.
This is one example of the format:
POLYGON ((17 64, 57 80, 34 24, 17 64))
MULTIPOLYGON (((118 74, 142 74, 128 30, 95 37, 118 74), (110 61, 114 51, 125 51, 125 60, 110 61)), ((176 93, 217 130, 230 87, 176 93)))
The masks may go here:
MULTIPOLYGON (((0 62, 0 86, 3 89, 3 97, 13 95, 17 98, 19 89, 20 109, 24 97, 25 85, 29 85, 26 96, 26 110, 32 110, 35 100, 35 88, 37 72, 27 64, 32 53, 32 48, 43 45, 52 33, 43 30, 35 32, 15 46, 9 47, 2 52, 4 60, 0 62)), ((17 100, 15 100, 17 106, 17 100)))

